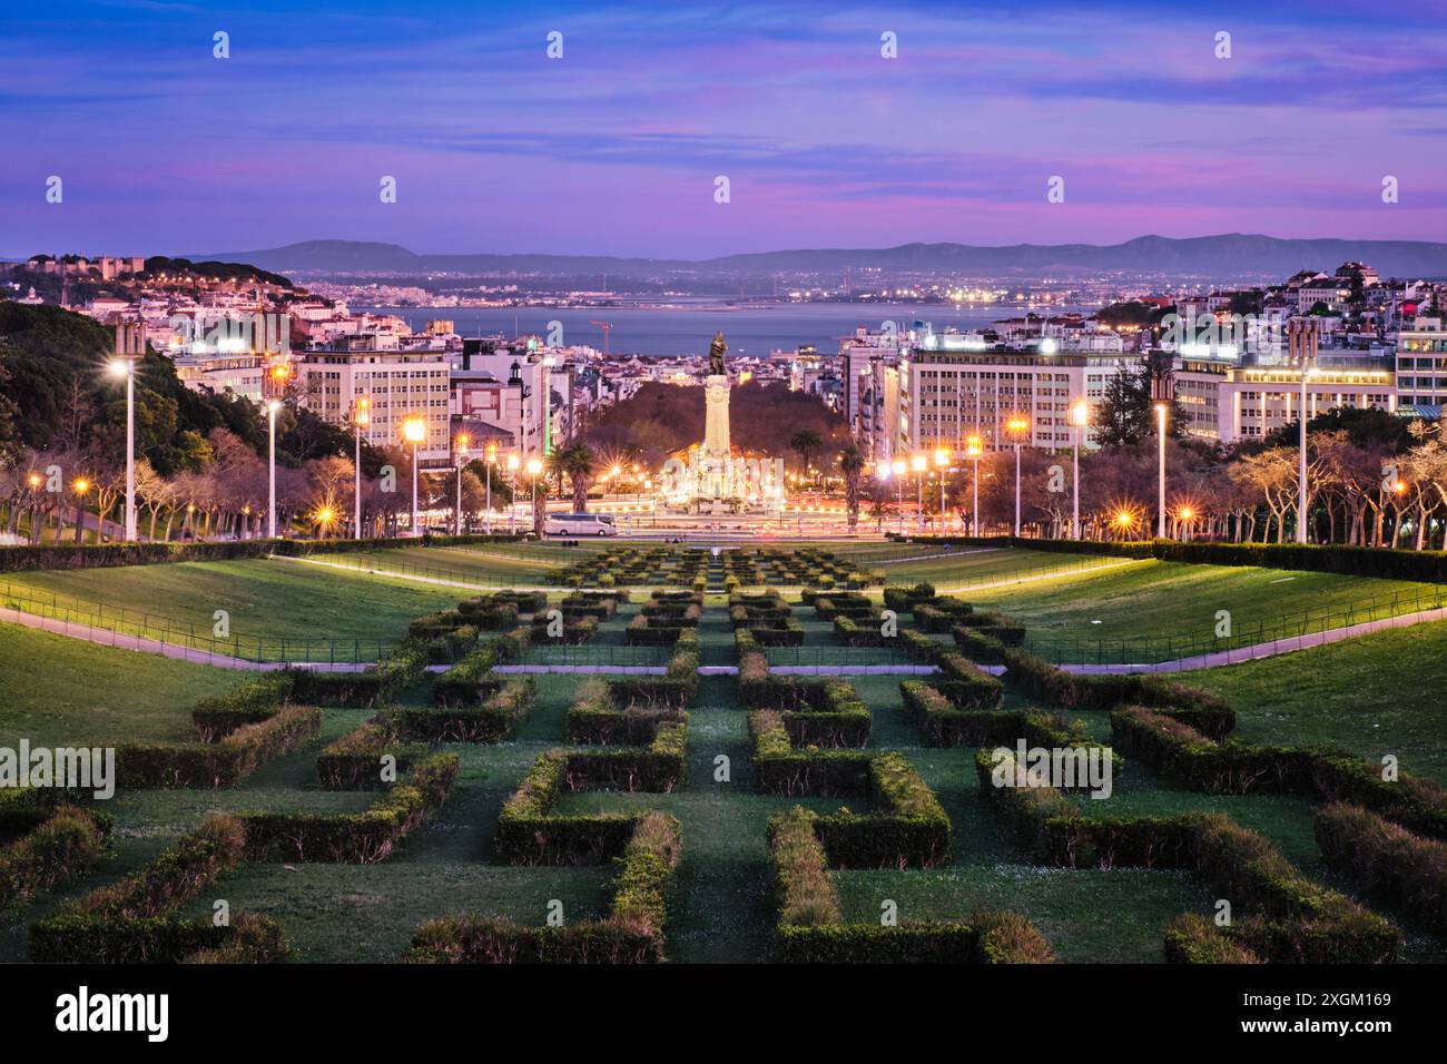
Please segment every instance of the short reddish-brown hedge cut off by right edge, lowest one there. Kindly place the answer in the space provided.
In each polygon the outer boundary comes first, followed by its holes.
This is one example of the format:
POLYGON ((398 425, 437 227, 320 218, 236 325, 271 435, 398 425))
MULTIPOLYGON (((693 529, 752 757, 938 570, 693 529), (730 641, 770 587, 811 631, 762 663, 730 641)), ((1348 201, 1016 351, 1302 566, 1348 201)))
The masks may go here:
POLYGON ((1362 893, 1380 898, 1447 931, 1447 843, 1422 838, 1357 805, 1317 812, 1317 844, 1327 867, 1362 893))

